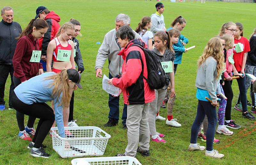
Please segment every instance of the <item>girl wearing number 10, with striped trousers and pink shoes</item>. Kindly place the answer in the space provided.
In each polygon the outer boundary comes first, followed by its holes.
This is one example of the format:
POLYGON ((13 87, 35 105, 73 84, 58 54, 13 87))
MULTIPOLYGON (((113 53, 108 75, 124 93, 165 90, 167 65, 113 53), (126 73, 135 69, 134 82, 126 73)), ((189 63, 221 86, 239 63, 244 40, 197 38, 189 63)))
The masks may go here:
MULTIPOLYGON (((177 33, 179 34, 179 32, 177 32, 177 33)), ((176 35, 174 35, 174 36, 177 37, 176 35)), ((171 36, 170 36, 169 32, 164 32, 164 31, 156 32, 155 36, 154 36, 154 40, 155 40, 155 48, 152 50, 152 53, 156 55, 157 59, 160 62, 166 63, 166 64, 164 64, 164 68, 166 68, 166 67, 173 68, 175 53, 173 51, 172 44, 174 42, 171 40, 171 36)), ((171 78, 171 85, 172 85, 171 97, 174 97, 175 96, 174 73, 171 72, 171 70, 166 70, 166 75, 169 79, 171 78)), ((155 141, 157 143, 165 143, 166 142, 165 140, 162 139, 162 137, 164 137, 164 134, 156 132, 156 122, 155 122, 157 117, 163 118, 160 115, 157 116, 157 114, 158 114, 161 104, 164 101, 166 92, 167 92, 167 86, 164 87, 163 89, 155 90, 156 99, 153 100, 149 104, 148 125, 149 125, 150 134, 151 134, 151 140, 155 141)), ((164 120, 165 120, 165 118, 164 118, 164 120)))

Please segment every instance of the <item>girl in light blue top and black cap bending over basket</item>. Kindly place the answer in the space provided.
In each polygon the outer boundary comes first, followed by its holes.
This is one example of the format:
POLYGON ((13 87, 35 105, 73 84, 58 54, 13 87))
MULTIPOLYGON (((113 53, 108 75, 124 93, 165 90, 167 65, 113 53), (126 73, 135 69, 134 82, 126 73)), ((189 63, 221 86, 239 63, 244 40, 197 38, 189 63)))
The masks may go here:
POLYGON ((81 74, 75 69, 64 69, 58 74, 47 72, 35 76, 14 89, 12 104, 16 111, 34 118, 39 118, 36 133, 29 143, 30 154, 34 157, 48 158, 50 154, 44 151, 42 145, 47 133, 56 120, 60 136, 65 138, 62 114, 67 111, 70 101, 69 90, 80 85, 81 74), (53 99, 55 115, 52 108, 45 102, 53 99))

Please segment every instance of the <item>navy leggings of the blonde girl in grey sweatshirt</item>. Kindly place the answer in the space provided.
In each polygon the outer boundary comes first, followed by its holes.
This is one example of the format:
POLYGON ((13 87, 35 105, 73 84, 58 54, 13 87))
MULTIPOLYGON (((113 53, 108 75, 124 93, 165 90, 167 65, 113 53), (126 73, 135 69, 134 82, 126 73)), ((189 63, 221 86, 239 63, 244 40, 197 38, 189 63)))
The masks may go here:
POLYGON ((212 151, 215 128, 218 120, 217 120, 216 108, 212 106, 212 104, 209 101, 198 100, 196 119, 191 127, 190 143, 194 143, 194 144, 197 143, 197 134, 198 134, 200 125, 204 121, 205 115, 208 118, 208 128, 206 132, 206 135, 207 135, 206 150, 212 151))

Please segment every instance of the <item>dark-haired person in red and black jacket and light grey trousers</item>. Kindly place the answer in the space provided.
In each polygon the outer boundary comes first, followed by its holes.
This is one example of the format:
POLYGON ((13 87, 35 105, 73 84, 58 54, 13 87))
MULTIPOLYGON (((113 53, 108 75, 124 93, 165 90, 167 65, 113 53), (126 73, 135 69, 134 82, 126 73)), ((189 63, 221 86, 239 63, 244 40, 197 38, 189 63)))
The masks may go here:
POLYGON ((126 126, 128 145, 124 154, 116 156, 136 156, 136 151, 143 156, 149 156, 149 127, 148 127, 148 107, 149 103, 155 99, 154 89, 149 88, 143 76, 148 78, 147 63, 144 51, 132 44, 139 44, 147 48, 140 39, 134 39, 134 33, 130 26, 122 26, 116 37, 121 47, 124 47, 118 55, 122 55, 124 63, 122 66, 122 76, 112 78, 109 84, 121 88, 124 96, 124 104, 127 104, 126 126), (140 144, 140 147, 138 147, 140 144))

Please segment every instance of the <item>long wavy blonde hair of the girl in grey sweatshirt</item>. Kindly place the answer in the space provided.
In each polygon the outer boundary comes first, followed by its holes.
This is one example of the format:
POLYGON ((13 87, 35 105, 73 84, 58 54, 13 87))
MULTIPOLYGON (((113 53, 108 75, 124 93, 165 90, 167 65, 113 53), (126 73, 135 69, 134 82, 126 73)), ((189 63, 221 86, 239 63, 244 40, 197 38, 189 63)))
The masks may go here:
POLYGON ((197 61, 198 68, 210 56, 212 56, 217 62, 217 79, 222 73, 222 67, 224 62, 224 57, 222 54, 222 44, 219 37, 213 37, 208 41, 206 47, 204 47, 203 55, 200 56, 199 60, 197 61))

